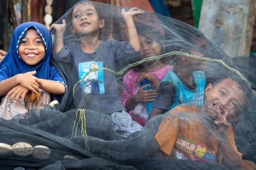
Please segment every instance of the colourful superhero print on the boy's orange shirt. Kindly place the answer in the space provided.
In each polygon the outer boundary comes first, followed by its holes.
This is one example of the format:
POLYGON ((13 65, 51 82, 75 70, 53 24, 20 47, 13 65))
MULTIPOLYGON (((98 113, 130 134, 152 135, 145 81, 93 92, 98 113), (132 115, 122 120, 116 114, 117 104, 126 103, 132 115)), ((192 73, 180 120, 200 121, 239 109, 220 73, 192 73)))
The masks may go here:
POLYGON ((215 151, 206 152, 207 148, 204 144, 195 144, 195 142, 187 139, 186 137, 179 136, 176 140, 175 146, 177 150, 176 153, 174 153, 174 158, 176 159, 186 160, 186 157, 188 157, 192 161, 201 160, 208 163, 215 163, 216 161, 215 151))

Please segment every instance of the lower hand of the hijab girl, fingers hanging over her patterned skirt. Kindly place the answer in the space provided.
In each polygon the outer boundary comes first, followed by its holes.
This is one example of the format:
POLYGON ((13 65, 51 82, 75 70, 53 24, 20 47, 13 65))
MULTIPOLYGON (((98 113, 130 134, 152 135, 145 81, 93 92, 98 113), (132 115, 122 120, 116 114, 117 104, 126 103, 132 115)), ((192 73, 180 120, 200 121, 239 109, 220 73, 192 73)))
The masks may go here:
POLYGON ((18 98, 20 98, 21 100, 24 100, 26 93, 29 90, 27 88, 24 88, 21 85, 18 85, 14 88, 12 88, 7 94, 6 94, 6 98, 8 98, 10 96, 10 100, 14 101, 15 103, 17 102, 18 98))

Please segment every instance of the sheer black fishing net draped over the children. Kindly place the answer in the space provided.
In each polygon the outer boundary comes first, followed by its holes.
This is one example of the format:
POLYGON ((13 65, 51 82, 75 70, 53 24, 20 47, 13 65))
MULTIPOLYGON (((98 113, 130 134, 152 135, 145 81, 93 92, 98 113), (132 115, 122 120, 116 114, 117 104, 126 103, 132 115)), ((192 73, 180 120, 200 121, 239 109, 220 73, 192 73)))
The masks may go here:
MULTIPOLYGON (((121 15, 131 7, 90 3, 78 2, 54 23, 66 23, 65 46, 52 59, 67 84, 60 107, 0 120, 1 169, 255 168, 254 74, 198 29, 146 11, 133 16, 136 52, 121 15), (100 44, 97 31, 73 31, 74 17, 81 27, 99 26, 86 10, 92 4, 104 18, 100 44), (90 41, 88 52, 83 42, 90 41), (144 78, 153 90, 143 91, 144 78), (206 91, 209 83, 218 91, 206 91), (224 121, 227 110, 240 119, 227 118, 226 130, 210 115, 224 121)), ((51 31, 56 47, 62 42, 51 31)))

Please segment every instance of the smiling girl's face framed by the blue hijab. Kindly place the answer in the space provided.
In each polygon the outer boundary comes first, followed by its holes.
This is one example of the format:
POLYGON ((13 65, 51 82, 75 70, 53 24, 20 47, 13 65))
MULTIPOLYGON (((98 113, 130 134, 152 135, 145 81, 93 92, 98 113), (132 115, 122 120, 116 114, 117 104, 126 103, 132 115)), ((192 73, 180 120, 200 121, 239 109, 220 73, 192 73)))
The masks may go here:
POLYGON ((42 37, 34 29, 28 29, 25 37, 21 39, 18 54, 30 66, 36 65, 45 55, 45 46, 42 37))

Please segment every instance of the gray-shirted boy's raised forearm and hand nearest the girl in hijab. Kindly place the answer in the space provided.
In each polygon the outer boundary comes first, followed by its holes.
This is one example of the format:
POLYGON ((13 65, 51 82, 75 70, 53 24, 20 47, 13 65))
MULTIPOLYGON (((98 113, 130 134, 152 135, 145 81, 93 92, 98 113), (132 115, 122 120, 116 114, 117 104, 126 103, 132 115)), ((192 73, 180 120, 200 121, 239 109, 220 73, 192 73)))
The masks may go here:
POLYGON ((63 36, 66 30, 65 19, 62 20, 62 24, 53 24, 50 27, 51 32, 53 32, 54 30, 56 31, 56 40, 55 40, 55 44, 53 45, 53 52, 58 52, 64 46, 63 36))

